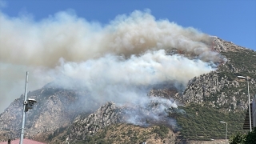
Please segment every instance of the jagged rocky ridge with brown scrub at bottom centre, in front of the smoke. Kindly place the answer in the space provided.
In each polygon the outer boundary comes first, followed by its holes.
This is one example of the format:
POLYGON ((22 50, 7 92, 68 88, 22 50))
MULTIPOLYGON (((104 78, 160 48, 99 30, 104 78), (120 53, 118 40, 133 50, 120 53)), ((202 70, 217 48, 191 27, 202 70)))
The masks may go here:
MULTIPOLYGON (((137 107, 138 108, 138 107, 137 107)), ((174 143, 177 134, 164 125, 134 126, 126 123, 130 106, 115 106, 106 102, 93 114, 79 114, 66 130, 54 130, 49 143, 174 143), (160 134, 158 134, 161 132, 160 134)), ((147 110, 149 112, 149 110, 147 110)))

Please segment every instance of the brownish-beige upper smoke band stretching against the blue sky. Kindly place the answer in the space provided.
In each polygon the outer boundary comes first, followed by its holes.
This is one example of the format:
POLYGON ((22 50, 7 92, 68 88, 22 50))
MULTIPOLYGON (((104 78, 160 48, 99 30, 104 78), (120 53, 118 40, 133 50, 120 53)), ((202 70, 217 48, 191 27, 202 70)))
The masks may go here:
POLYGON ((140 11, 120 15, 107 26, 86 22, 68 12, 59 12, 41 22, 26 16, 8 18, 1 13, 0 21, 1 62, 26 66, 52 68, 59 58, 82 62, 105 54, 130 56, 173 48, 204 58, 209 51, 201 42, 210 42, 206 34, 167 20, 156 21, 140 11))

